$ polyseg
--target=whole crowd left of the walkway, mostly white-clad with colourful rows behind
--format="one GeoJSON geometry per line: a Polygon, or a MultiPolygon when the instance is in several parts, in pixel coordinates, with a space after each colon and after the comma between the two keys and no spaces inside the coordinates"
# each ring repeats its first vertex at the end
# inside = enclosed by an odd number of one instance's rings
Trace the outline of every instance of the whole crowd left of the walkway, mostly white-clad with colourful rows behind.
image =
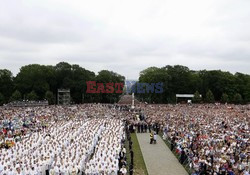
{"type": "Polygon", "coordinates": [[[2,142],[14,142],[0,149],[1,175],[127,173],[125,122],[118,110],[105,105],[1,108],[0,121],[1,131],[7,131],[2,142]]]}

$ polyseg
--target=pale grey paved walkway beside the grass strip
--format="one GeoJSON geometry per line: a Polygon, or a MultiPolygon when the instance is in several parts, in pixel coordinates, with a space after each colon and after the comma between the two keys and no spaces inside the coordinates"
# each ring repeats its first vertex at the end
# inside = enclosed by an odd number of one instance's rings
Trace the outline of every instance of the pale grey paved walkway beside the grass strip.
{"type": "Polygon", "coordinates": [[[164,143],[149,144],[149,133],[136,134],[149,175],[187,175],[188,173],[164,143]]]}

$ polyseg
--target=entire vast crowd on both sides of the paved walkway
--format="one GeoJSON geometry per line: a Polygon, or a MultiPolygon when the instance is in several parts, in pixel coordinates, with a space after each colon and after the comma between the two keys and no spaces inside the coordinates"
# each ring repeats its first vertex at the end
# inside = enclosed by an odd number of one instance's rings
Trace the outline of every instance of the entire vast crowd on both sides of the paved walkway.
{"type": "Polygon", "coordinates": [[[154,131],[193,175],[249,175],[249,121],[247,105],[3,107],[0,174],[133,174],[129,133],[154,131]]]}

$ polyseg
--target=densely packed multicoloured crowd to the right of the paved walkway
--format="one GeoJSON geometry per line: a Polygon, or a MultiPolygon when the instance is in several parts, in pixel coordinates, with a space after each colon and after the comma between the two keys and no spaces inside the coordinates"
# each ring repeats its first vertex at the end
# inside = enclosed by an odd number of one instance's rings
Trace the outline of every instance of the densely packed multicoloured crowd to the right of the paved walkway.
{"type": "MultiPolygon", "coordinates": [[[[250,106],[147,105],[140,108],[147,125],[159,126],[163,138],[189,164],[193,175],[249,175],[250,106]]],[[[140,125],[134,120],[133,125],[140,125]]]]}

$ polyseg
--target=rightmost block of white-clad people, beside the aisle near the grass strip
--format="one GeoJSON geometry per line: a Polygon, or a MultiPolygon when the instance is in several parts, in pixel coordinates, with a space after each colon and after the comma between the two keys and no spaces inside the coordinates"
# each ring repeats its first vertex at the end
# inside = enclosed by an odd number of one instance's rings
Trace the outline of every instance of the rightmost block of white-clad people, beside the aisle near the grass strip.
{"type": "MultiPolygon", "coordinates": [[[[103,123],[103,121],[100,121],[103,123]]],[[[100,133],[100,140],[95,146],[92,159],[86,164],[86,174],[116,174],[119,168],[120,154],[126,154],[126,149],[122,149],[125,141],[125,132],[120,120],[108,120],[104,124],[105,130],[100,133]]],[[[126,174],[123,164],[121,173],[126,174]]]]}

